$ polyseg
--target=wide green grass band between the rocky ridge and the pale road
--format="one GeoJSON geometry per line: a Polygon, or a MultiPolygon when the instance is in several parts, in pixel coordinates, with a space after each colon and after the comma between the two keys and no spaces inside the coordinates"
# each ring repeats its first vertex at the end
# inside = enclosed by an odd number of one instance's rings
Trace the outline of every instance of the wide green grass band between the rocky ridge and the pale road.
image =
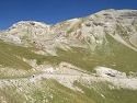
{"type": "Polygon", "coordinates": [[[37,64],[48,61],[52,65],[57,65],[61,61],[70,62],[88,71],[93,71],[96,66],[105,66],[119,71],[129,72],[137,71],[137,52],[115,41],[109,34],[105,35],[109,44],[105,43],[94,50],[71,47],[71,50],[62,50],[57,48],[58,56],[42,56],[32,53],[34,47],[21,47],[0,42],[0,64],[13,66],[21,69],[31,69],[31,66],[24,62],[23,57],[27,59],[36,59],[37,64]],[[115,66],[114,66],[115,65],[115,66]]]}

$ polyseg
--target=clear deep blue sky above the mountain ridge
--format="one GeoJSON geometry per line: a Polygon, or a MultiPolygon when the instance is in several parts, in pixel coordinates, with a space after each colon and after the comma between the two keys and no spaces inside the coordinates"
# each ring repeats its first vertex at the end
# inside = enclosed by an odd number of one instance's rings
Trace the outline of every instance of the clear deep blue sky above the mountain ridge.
{"type": "Polygon", "coordinates": [[[0,30],[20,21],[55,24],[106,9],[137,10],[137,0],[0,0],[0,30]]]}

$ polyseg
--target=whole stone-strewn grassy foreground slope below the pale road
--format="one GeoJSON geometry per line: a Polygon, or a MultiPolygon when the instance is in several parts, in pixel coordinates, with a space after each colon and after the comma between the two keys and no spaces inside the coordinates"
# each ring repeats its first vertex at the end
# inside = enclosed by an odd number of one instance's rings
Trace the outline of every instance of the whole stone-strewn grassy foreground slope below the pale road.
{"type": "Polygon", "coordinates": [[[2,100],[8,103],[136,103],[137,91],[117,89],[109,82],[75,81],[80,91],[70,90],[53,79],[37,82],[19,81],[0,89],[2,100]]]}

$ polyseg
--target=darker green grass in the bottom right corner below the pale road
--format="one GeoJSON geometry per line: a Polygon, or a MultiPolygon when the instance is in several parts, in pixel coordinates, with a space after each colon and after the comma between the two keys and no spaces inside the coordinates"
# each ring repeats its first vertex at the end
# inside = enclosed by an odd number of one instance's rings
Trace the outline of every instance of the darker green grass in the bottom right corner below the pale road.
{"type": "Polygon", "coordinates": [[[96,103],[136,103],[137,91],[129,89],[110,89],[109,85],[112,85],[109,82],[95,82],[92,81],[91,85],[84,85],[75,81],[75,87],[80,88],[84,94],[95,101],[96,103]],[[89,85],[89,87],[87,87],[89,85]],[[90,88],[94,87],[94,88],[90,88]],[[103,94],[103,96],[101,95],[103,94]]]}

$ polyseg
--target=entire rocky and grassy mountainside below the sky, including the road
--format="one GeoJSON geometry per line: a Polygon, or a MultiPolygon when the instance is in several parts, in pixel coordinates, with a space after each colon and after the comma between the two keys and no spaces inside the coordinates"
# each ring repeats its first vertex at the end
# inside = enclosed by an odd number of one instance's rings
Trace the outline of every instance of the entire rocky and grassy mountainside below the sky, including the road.
{"type": "Polygon", "coordinates": [[[0,58],[1,103],[136,103],[137,10],[21,21],[0,32],[0,58]]]}

